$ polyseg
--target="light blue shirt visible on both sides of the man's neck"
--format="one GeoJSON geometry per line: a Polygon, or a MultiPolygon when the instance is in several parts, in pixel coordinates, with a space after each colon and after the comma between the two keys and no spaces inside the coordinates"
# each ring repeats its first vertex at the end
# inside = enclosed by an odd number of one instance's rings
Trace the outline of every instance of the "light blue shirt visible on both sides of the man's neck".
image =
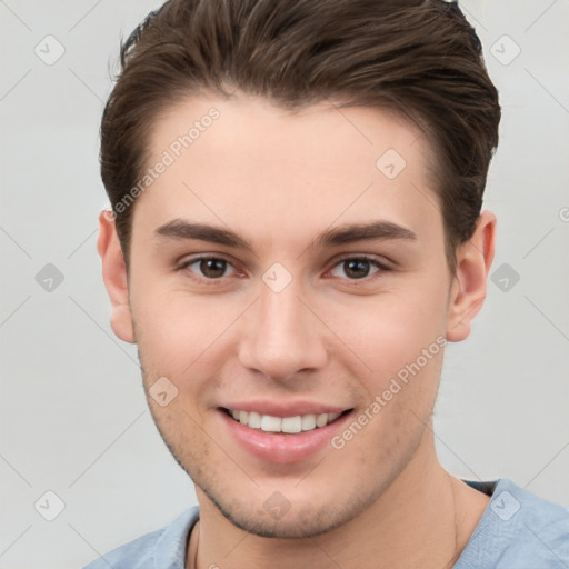
{"type": "MultiPolygon", "coordinates": [[[[507,478],[473,482],[491,500],[453,569],[569,569],[569,508],[542,500],[507,478]]],[[[83,569],[186,569],[198,507],[113,549],[83,569]]]]}

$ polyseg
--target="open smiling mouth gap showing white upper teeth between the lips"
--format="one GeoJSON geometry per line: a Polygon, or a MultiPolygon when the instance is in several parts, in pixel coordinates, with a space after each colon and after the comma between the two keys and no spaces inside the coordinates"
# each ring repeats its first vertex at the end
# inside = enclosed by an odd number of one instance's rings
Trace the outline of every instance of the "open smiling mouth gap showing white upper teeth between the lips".
{"type": "Polygon", "coordinates": [[[231,419],[240,422],[251,429],[261,430],[264,432],[282,432],[287,435],[295,435],[299,432],[312,431],[320,429],[338,420],[353,409],[347,409],[342,412],[336,413],[308,413],[297,415],[295,417],[273,417],[271,415],[261,415],[256,411],[241,411],[239,409],[221,408],[231,419]]]}

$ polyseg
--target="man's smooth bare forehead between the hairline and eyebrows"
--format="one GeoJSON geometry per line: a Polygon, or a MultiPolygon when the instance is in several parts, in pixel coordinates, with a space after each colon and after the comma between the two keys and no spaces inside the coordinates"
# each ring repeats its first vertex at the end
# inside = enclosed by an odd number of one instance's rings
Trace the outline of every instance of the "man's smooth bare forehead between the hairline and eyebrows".
{"type": "Polygon", "coordinates": [[[290,233],[282,239],[306,241],[335,223],[385,219],[442,236],[427,140],[387,111],[326,102],[293,113],[261,98],[192,97],[158,118],[149,150],[149,168],[167,166],[134,218],[154,228],[186,217],[251,242],[277,226],[290,233]]]}

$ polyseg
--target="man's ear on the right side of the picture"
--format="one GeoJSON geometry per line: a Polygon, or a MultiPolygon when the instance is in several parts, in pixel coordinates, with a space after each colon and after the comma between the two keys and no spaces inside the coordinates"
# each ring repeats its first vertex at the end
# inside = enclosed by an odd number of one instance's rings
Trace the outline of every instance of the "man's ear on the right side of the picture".
{"type": "Polygon", "coordinates": [[[447,340],[468,338],[475,316],[482,308],[496,246],[496,216],[480,213],[472,237],[457,251],[457,271],[449,295],[447,340]]]}

